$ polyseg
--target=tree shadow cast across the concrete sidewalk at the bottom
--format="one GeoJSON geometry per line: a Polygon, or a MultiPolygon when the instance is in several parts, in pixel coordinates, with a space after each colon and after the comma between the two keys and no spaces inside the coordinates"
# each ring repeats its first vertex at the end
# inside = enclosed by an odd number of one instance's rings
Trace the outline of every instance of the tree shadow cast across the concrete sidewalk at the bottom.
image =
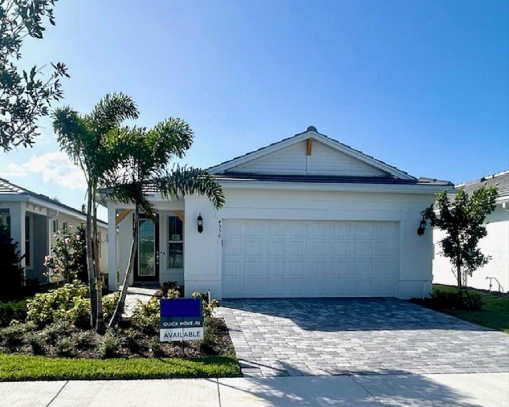
{"type": "MultiPolygon", "coordinates": [[[[293,367],[293,369],[295,369],[293,367]]],[[[382,373],[358,371],[355,375],[300,377],[244,377],[219,379],[221,401],[238,397],[238,405],[252,397],[271,405],[479,405],[463,392],[433,378],[401,370],[382,373]],[[245,398],[245,400],[244,400],[245,398]]],[[[227,403],[225,403],[227,405],[227,403]]]]}

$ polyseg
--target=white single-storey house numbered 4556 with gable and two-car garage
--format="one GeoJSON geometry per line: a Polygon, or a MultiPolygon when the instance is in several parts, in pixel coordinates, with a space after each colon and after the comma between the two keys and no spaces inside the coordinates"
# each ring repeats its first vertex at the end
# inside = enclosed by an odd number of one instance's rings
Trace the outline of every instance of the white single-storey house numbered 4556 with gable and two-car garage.
{"type": "MultiPolygon", "coordinates": [[[[429,291],[432,233],[416,230],[420,211],[450,182],[417,179],[314,127],[209,172],[225,193],[220,210],[203,196],[151,196],[158,223],[140,220],[131,284],[175,280],[186,296],[210,289],[215,298],[429,291]]],[[[128,260],[133,206],[104,205],[115,289],[128,260]]]]}

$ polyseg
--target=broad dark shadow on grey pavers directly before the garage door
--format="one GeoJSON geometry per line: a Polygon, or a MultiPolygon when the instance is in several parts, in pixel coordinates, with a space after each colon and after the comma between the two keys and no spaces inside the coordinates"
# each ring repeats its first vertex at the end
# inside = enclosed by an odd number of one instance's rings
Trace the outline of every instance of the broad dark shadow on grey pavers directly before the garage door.
{"type": "MultiPolygon", "coordinates": [[[[236,319],[272,321],[274,328],[278,321],[271,317],[289,319],[310,331],[492,330],[397,298],[229,299],[222,300],[221,307],[223,312],[234,312],[236,319]]],[[[226,319],[236,330],[231,319],[226,319]]]]}

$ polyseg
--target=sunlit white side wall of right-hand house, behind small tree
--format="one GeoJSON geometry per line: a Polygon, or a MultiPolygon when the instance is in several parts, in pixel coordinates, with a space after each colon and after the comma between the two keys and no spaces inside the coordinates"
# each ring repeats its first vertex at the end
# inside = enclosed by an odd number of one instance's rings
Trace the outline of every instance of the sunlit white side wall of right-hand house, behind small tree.
{"type": "MultiPolygon", "coordinates": [[[[486,225],[488,235],[480,240],[479,248],[484,255],[492,259],[484,267],[467,277],[469,287],[488,290],[489,280],[486,277],[496,277],[505,292],[509,291],[509,211],[497,205],[495,211],[488,217],[486,225]]],[[[433,259],[433,282],[439,284],[456,285],[456,276],[451,272],[449,259],[440,255],[439,241],[445,237],[441,230],[433,231],[435,257],[433,259]]],[[[492,290],[498,290],[493,282],[492,290]]]]}

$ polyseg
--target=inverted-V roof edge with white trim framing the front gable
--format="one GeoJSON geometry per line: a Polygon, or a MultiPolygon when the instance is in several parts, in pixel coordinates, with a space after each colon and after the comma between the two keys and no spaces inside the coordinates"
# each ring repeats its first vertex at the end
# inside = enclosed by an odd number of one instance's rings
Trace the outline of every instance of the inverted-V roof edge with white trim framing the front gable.
{"type": "Polygon", "coordinates": [[[405,171],[400,170],[399,168],[396,168],[381,160],[378,160],[371,155],[364,154],[362,151],[356,150],[346,144],[340,143],[339,141],[334,140],[324,134],[318,133],[317,129],[314,126],[309,126],[307,130],[303,133],[298,133],[295,136],[288,137],[276,143],[272,143],[269,144],[268,146],[240,155],[236,158],[233,158],[232,160],[228,160],[216,166],[210,167],[207,169],[207,171],[211,172],[212,174],[223,174],[238,165],[260,158],[261,156],[288,147],[292,144],[298,143],[308,138],[321,141],[325,145],[328,145],[329,147],[335,150],[348,154],[353,158],[360,160],[366,164],[369,164],[375,168],[385,171],[395,178],[416,180],[415,177],[411,176],[405,171]]]}

